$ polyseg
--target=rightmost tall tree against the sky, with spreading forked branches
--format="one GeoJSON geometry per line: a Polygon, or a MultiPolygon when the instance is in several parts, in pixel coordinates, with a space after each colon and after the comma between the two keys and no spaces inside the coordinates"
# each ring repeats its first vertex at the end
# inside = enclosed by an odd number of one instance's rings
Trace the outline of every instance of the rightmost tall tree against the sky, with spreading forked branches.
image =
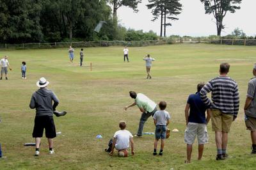
{"type": "Polygon", "coordinates": [[[235,13],[240,9],[238,4],[241,4],[242,0],[200,0],[204,3],[205,13],[211,14],[216,19],[217,35],[221,36],[223,25],[223,19],[227,12],[235,13]]]}

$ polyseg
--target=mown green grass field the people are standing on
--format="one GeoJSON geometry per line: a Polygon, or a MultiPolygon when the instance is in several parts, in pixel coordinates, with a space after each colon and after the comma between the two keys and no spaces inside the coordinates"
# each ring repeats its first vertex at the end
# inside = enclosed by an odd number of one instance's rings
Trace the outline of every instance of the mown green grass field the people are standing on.
{"type": "MultiPolygon", "coordinates": [[[[0,169],[255,169],[255,156],[250,155],[250,132],[243,120],[243,105],[247,83],[255,63],[255,47],[181,44],[129,48],[130,63],[124,63],[122,47],[94,47],[85,49],[85,64],[79,66],[79,49],[74,63],[68,62],[67,49],[1,50],[8,55],[13,68],[9,80],[0,81],[0,143],[3,158],[0,169]],[[146,79],[146,54],[156,59],[152,79],[146,79]],[[26,61],[28,79],[21,79],[20,65],[26,61]],[[197,161],[194,144],[192,163],[184,164],[186,128],[184,107],[188,95],[195,93],[198,82],[207,82],[218,75],[220,63],[230,63],[230,77],[239,85],[239,115],[232,124],[228,137],[230,158],[216,161],[216,146],[211,125],[208,126],[209,144],[205,145],[202,161],[197,161]],[[90,71],[90,63],[93,65],[90,71]],[[34,142],[31,136],[35,110],[29,109],[36,81],[45,77],[60,99],[59,111],[66,116],[56,118],[55,155],[48,154],[47,140],[42,138],[40,157],[35,148],[24,143],[34,142]],[[163,157],[153,156],[153,135],[134,139],[135,155],[109,157],[104,151],[108,141],[118,130],[120,120],[127,121],[127,130],[136,133],[140,111],[124,106],[131,104],[129,91],[144,93],[155,102],[167,102],[172,116],[170,129],[178,128],[166,140],[163,157]],[[101,134],[102,139],[96,139],[101,134]]],[[[211,123],[210,123],[211,124],[211,123]]],[[[152,118],[145,123],[144,132],[154,132],[152,118]]]]}

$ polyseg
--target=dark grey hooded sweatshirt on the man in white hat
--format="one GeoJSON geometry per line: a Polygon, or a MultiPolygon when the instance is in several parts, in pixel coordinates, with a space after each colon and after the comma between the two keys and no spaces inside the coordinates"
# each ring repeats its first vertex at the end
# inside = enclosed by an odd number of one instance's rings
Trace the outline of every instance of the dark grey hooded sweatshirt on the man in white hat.
{"type": "Polygon", "coordinates": [[[33,93],[29,107],[36,109],[36,116],[53,116],[53,111],[55,111],[58,104],[59,100],[53,91],[40,88],[33,93]]]}

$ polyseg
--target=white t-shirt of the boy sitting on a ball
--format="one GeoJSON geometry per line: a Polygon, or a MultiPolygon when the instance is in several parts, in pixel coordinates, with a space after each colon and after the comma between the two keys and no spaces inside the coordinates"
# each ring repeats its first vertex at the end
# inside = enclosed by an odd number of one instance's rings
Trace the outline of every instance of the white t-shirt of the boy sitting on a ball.
{"type": "Polygon", "coordinates": [[[116,150],[124,150],[129,148],[129,142],[131,137],[133,136],[128,130],[116,131],[114,134],[114,138],[116,138],[116,150]]]}

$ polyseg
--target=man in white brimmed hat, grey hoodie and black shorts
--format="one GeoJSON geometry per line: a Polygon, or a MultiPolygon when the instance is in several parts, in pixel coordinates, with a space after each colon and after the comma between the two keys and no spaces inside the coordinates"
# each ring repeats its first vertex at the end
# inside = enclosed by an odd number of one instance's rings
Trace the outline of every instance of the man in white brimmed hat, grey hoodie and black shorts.
{"type": "Polygon", "coordinates": [[[39,147],[41,137],[44,133],[44,128],[45,137],[48,138],[49,153],[54,153],[54,150],[52,150],[52,139],[56,137],[56,130],[53,120],[53,111],[56,110],[59,100],[51,90],[46,88],[48,84],[49,81],[46,81],[44,77],[40,78],[40,80],[36,82],[36,86],[38,86],[40,89],[33,93],[31,102],[29,104],[31,109],[36,109],[35,126],[33,130],[33,137],[35,137],[36,141],[35,156],[39,156],[40,153],[39,147]],[[53,105],[52,101],[54,102],[53,105]]]}

